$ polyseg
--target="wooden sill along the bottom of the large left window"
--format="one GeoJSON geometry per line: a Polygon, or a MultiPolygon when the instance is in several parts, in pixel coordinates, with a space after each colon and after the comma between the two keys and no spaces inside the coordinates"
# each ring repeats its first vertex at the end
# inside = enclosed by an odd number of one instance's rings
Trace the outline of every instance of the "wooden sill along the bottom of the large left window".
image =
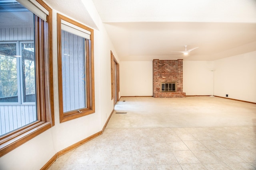
{"type": "Polygon", "coordinates": [[[3,135],[0,137],[0,157],[51,127],[50,122],[36,121],[17,131],[3,135]]]}

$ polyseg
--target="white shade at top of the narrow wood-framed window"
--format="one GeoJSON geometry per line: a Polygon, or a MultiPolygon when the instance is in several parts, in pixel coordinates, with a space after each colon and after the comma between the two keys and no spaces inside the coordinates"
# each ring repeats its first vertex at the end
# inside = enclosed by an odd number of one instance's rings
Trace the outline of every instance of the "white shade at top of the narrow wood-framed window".
{"type": "Polygon", "coordinates": [[[78,26],[76,26],[70,22],[64,21],[64,20],[61,20],[61,29],[64,31],[67,31],[69,33],[78,35],[80,37],[84,37],[86,39],[90,39],[90,37],[91,37],[90,31],[83,29],[81,27],[78,27],[78,26]]]}

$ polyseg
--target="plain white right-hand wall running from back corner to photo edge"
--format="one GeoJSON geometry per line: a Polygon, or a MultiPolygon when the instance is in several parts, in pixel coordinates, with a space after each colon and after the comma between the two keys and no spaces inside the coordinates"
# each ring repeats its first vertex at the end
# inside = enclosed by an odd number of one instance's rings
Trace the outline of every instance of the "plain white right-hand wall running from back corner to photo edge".
{"type": "Polygon", "coordinates": [[[214,95],[256,103],[256,51],[214,61],[214,95]]]}

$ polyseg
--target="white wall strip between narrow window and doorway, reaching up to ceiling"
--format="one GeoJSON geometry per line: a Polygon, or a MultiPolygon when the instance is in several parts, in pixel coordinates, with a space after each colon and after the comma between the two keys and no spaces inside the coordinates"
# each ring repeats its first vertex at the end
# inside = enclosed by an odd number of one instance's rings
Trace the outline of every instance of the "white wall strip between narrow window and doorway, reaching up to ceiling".
{"type": "Polygon", "coordinates": [[[114,99],[111,99],[110,51],[118,63],[120,59],[92,0],[82,1],[82,3],[98,27],[94,29],[94,87],[95,100],[99,101],[100,127],[102,128],[114,109],[114,99]]]}

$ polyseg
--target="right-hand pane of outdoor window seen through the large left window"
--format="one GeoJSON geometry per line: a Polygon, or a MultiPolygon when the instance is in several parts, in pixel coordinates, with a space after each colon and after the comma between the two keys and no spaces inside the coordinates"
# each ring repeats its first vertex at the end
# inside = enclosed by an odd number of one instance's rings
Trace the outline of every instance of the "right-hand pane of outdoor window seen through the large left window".
{"type": "Polygon", "coordinates": [[[23,102],[36,102],[34,43],[21,43],[23,67],[23,102]]]}

